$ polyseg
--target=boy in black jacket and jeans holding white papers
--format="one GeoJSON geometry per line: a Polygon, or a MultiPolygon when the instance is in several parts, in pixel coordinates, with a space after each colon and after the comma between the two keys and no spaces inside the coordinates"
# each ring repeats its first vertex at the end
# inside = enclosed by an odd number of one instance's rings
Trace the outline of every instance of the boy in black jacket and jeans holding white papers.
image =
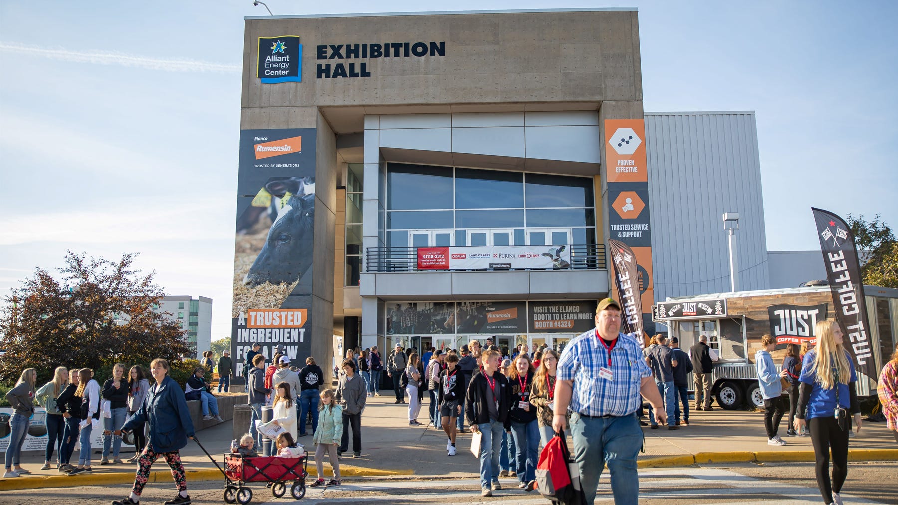
{"type": "Polygon", "coordinates": [[[499,451],[502,450],[502,432],[511,429],[508,411],[511,409],[511,387],[508,379],[498,373],[502,356],[497,350],[483,353],[481,373],[471,377],[468,385],[465,415],[471,424],[471,433],[482,434],[480,439],[480,488],[481,496],[492,496],[502,489],[499,484],[499,451]]]}

